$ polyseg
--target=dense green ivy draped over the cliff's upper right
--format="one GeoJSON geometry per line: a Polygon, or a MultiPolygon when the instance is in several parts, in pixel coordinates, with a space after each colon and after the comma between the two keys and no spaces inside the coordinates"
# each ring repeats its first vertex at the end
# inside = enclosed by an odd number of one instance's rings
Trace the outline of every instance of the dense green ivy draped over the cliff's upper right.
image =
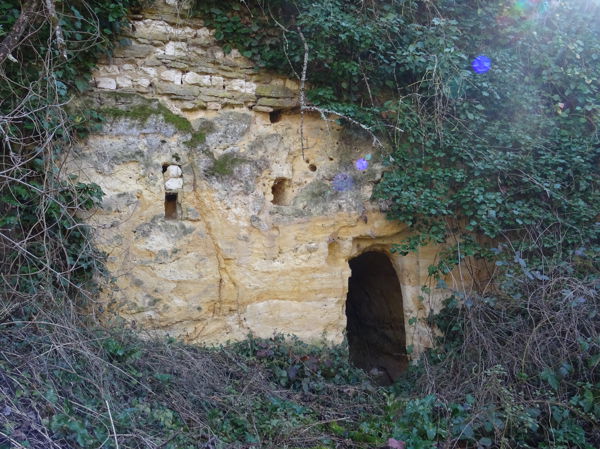
{"type": "Polygon", "coordinates": [[[462,257],[481,237],[535,258],[597,249],[594,2],[220,3],[197,8],[225,48],[306,73],[310,104],[386,137],[376,197],[416,231],[399,251],[460,240],[462,257]],[[476,73],[481,54],[492,66],[476,73]]]}

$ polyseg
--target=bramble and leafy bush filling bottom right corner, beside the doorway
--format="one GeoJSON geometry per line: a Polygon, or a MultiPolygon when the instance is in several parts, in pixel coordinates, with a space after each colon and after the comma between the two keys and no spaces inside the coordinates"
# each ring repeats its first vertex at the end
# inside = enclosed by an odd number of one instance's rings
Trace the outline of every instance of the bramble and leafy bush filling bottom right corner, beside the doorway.
{"type": "MultiPolygon", "coordinates": [[[[425,414],[413,426],[433,420],[443,440],[467,447],[597,447],[600,283],[597,271],[580,276],[582,262],[532,279],[517,258],[501,290],[449,298],[431,317],[443,336],[412,386],[433,399],[404,406],[425,414]]],[[[403,419],[396,438],[411,442],[403,419]]]]}

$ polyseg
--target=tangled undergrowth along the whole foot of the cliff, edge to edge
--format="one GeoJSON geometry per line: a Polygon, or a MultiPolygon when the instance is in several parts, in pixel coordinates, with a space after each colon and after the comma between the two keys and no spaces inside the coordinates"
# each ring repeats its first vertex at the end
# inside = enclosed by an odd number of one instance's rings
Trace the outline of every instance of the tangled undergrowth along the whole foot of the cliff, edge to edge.
{"type": "Polygon", "coordinates": [[[0,325],[0,448],[595,449],[600,283],[576,272],[588,262],[535,282],[515,263],[501,293],[456,292],[431,317],[436,349],[391,387],[345,345],[202,348],[38,310],[0,325]]]}

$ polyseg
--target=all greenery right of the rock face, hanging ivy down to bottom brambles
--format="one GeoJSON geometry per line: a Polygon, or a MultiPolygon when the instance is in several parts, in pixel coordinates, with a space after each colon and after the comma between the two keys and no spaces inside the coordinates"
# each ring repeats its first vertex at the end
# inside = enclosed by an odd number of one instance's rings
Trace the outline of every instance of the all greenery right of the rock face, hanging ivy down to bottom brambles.
{"type": "Polygon", "coordinates": [[[398,252],[446,245],[429,267],[440,288],[468,272],[428,320],[437,348],[396,387],[413,396],[392,435],[598,446],[600,5],[197,4],[226,46],[304,79],[304,106],[384,142],[375,197],[414,230],[398,252]]]}

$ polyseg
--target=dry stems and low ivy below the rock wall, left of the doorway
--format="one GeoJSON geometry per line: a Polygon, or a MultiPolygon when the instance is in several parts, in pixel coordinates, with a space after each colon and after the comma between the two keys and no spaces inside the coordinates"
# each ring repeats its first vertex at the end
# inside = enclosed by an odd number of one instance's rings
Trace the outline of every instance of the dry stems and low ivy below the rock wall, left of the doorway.
{"type": "Polygon", "coordinates": [[[276,336],[207,349],[114,329],[2,326],[1,448],[350,448],[385,439],[385,395],[348,364],[344,346],[276,336]]]}

